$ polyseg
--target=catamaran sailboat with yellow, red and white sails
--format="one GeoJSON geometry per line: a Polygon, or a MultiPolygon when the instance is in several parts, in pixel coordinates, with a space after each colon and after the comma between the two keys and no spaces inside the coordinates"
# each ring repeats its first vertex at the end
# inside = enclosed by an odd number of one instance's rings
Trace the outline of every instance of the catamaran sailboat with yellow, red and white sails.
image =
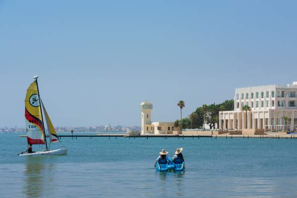
{"type": "Polygon", "coordinates": [[[64,155],[67,154],[67,148],[62,147],[55,150],[49,150],[52,143],[59,142],[57,133],[49,119],[49,114],[46,110],[45,105],[40,99],[38,89],[38,76],[34,76],[33,83],[27,89],[25,98],[25,118],[26,118],[26,131],[27,131],[27,142],[32,145],[45,145],[46,149],[36,152],[21,152],[19,156],[36,156],[36,155],[64,155]],[[45,114],[48,131],[49,131],[49,145],[47,143],[45,125],[43,119],[43,111],[45,114]]]}

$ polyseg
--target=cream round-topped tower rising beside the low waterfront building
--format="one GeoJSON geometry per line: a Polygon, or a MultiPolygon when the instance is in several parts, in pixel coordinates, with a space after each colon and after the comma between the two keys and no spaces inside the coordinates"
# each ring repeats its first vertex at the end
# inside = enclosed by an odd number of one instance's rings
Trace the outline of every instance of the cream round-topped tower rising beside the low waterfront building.
{"type": "Polygon", "coordinates": [[[140,109],[141,109],[141,134],[144,135],[148,131],[150,132],[150,127],[146,127],[146,125],[151,124],[150,111],[152,109],[152,104],[148,102],[148,100],[146,100],[140,104],[140,109]]]}

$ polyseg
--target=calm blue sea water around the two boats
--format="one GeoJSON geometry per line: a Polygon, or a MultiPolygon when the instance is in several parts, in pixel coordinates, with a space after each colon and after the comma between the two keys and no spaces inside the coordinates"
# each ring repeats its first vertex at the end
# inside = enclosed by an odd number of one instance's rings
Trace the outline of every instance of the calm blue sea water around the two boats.
{"type": "Polygon", "coordinates": [[[297,139],[62,138],[65,156],[19,157],[18,136],[0,134],[0,198],[297,197],[297,139]],[[186,171],[156,172],[178,147],[186,171]]]}

